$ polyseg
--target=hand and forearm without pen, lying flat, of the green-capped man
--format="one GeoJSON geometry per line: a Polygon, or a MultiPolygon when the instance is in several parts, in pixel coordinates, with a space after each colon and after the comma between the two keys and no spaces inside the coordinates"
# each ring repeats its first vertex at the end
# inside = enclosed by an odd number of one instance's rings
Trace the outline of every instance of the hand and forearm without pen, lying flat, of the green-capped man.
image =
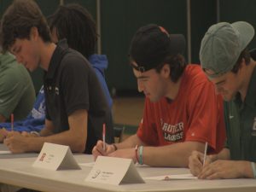
{"type": "Polygon", "coordinates": [[[216,160],[211,164],[204,166],[201,173],[198,175],[198,178],[207,179],[239,177],[253,177],[251,163],[249,161],[216,160]]]}

